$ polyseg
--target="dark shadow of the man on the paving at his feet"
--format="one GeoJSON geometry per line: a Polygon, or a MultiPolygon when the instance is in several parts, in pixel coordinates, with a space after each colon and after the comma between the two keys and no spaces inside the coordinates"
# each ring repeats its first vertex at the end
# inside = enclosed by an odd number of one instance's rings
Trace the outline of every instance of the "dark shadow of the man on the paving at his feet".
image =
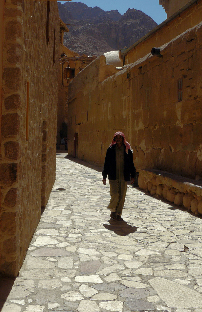
{"type": "Polygon", "coordinates": [[[117,235],[126,236],[129,233],[134,233],[137,231],[138,227],[132,227],[126,221],[117,221],[116,219],[110,219],[108,221],[110,224],[103,224],[103,226],[109,231],[113,231],[117,235]]]}

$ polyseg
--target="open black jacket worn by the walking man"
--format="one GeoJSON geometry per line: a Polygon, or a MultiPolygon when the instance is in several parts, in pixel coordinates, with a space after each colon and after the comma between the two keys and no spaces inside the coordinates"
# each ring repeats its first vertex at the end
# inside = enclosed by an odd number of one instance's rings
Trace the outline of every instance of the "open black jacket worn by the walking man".
{"type": "MultiPolygon", "coordinates": [[[[109,180],[116,180],[116,144],[110,146],[107,149],[105,161],[104,161],[104,169],[102,172],[103,179],[108,178],[109,180]]],[[[133,153],[129,149],[128,154],[125,151],[124,144],[124,180],[130,181],[130,177],[135,177],[135,167],[133,163],[133,153]]]]}

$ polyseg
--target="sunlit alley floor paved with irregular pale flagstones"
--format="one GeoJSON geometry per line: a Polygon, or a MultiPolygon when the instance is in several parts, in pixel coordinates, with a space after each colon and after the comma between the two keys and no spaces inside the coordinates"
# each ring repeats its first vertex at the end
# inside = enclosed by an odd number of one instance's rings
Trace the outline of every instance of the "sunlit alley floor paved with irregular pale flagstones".
{"type": "Polygon", "coordinates": [[[0,310],[202,312],[201,218],[128,186],[124,221],[110,220],[102,168],[65,155],[0,310]]]}

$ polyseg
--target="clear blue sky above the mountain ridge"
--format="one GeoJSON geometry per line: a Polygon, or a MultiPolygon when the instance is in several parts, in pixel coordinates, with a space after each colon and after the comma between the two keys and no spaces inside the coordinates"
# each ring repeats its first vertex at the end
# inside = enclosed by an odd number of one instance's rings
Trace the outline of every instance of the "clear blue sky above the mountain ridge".
{"type": "MultiPolygon", "coordinates": [[[[59,1],[65,3],[66,1],[59,1]]],[[[159,0],[72,0],[72,2],[83,2],[88,7],[100,7],[104,11],[118,10],[122,15],[130,8],[141,10],[160,24],[166,19],[166,13],[159,0]]]]}

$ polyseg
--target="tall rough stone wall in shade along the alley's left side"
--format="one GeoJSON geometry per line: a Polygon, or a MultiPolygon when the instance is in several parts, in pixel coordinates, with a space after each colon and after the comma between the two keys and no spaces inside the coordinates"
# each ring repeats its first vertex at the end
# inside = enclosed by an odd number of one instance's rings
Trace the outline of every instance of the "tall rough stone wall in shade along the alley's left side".
{"type": "Polygon", "coordinates": [[[57,2],[50,1],[47,27],[47,3],[7,0],[4,7],[3,275],[17,276],[55,180],[59,16],[57,2]]]}

